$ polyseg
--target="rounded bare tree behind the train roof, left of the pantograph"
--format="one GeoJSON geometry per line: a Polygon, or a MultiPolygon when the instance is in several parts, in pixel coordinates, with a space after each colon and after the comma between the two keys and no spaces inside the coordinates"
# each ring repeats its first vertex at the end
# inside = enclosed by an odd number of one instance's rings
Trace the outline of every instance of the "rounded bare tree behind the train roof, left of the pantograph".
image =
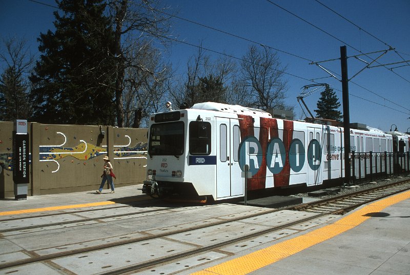
{"type": "Polygon", "coordinates": [[[267,47],[259,50],[250,46],[241,62],[242,80],[249,89],[251,107],[285,108],[288,90],[283,79],[286,67],[282,67],[276,52],[267,47]]]}

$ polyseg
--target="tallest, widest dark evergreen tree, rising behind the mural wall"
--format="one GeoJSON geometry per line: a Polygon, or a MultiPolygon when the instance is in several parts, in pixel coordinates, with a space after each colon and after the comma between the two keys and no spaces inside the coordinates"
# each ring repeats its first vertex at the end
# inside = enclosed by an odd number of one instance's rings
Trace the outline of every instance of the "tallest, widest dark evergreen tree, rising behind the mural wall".
{"type": "Polygon", "coordinates": [[[115,56],[103,0],[62,0],[56,30],[40,34],[43,54],[30,80],[33,120],[114,125],[115,56]]]}

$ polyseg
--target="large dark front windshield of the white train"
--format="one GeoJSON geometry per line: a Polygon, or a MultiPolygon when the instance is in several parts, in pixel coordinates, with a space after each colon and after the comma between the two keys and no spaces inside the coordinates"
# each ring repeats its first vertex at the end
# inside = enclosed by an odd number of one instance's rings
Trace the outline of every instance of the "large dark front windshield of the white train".
{"type": "Polygon", "coordinates": [[[183,122],[158,123],[151,126],[148,153],[150,155],[182,155],[183,122]]]}

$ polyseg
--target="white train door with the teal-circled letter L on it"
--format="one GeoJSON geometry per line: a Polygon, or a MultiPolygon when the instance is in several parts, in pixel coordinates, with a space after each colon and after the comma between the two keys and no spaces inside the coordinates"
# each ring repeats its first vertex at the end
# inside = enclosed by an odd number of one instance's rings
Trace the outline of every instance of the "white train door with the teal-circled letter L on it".
{"type": "Polygon", "coordinates": [[[308,183],[316,185],[322,183],[322,130],[308,127],[308,183]]]}

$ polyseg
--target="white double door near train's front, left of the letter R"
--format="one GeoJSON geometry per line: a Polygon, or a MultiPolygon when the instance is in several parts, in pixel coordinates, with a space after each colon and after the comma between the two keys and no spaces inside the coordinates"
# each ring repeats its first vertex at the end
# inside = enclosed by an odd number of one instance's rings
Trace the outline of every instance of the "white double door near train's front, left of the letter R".
{"type": "Polygon", "coordinates": [[[239,167],[239,122],[217,117],[216,123],[216,198],[243,195],[243,179],[239,167]]]}

